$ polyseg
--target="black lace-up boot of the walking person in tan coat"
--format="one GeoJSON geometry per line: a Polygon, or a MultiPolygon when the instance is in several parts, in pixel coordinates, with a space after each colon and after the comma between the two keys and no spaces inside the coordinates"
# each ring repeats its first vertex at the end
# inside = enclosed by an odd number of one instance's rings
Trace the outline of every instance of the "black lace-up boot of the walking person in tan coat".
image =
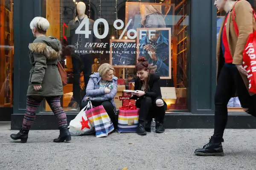
{"type": "Polygon", "coordinates": [[[209,143],[204,145],[201,149],[196,149],[195,154],[200,156],[224,156],[221,142],[224,139],[209,138],[209,143]]]}

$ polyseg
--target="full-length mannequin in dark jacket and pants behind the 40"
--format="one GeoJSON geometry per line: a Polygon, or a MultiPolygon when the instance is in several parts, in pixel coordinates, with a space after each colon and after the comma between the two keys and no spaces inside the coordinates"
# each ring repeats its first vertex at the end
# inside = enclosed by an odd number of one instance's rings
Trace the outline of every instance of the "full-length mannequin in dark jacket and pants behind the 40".
{"type": "MultiPolygon", "coordinates": [[[[89,27],[91,34],[88,38],[85,38],[84,34],[76,34],[77,28],[83,22],[83,20],[88,19],[85,14],[86,5],[83,2],[79,2],[76,5],[76,10],[78,15],[74,20],[71,20],[68,24],[67,28],[67,47],[66,50],[70,51],[72,57],[72,65],[73,65],[73,98],[77,102],[77,104],[81,104],[81,100],[85,94],[85,90],[80,88],[80,74],[83,72],[84,74],[84,87],[88,84],[92,64],[93,57],[92,51],[93,47],[90,46],[91,43],[99,43],[99,39],[94,36],[93,33],[93,25],[94,21],[89,18],[89,24],[83,24],[81,27],[81,31],[84,31],[86,27],[89,27]]],[[[72,110],[79,109],[79,105],[76,105],[72,110]]]]}

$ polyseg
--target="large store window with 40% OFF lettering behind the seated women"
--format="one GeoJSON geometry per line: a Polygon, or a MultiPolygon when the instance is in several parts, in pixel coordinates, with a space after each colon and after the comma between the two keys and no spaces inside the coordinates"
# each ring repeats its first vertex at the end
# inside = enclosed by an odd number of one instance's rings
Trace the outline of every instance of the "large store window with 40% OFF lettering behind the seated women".
{"type": "MultiPolygon", "coordinates": [[[[122,106],[122,91],[133,90],[141,56],[157,66],[168,111],[188,111],[189,9],[189,0],[44,0],[47,36],[63,45],[65,111],[79,112],[89,76],[103,63],[115,68],[114,100],[122,106]]],[[[47,103],[45,111],[51,111],[47,103]]]]}

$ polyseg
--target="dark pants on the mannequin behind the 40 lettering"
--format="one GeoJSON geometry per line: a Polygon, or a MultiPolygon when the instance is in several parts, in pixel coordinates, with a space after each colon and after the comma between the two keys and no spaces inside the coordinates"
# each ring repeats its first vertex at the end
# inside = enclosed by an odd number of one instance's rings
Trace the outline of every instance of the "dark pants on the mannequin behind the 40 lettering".
{"type": "Polygon", "coordinates": [[[76,102],[81,105],[82,97],[85,96],[85,89],[90,79],[92,71],[92,54],[72,54],[73,65],[73,97],[76,102]],[[80,74],[84,73],[84,91],[80,88],[80,74]]]}

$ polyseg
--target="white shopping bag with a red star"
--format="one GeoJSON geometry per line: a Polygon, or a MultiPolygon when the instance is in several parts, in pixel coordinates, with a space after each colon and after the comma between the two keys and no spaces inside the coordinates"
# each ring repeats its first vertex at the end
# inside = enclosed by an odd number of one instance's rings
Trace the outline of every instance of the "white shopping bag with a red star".
{"type": "Polygon", "coordinates": [[[69,132],[71,136],[81,136],[92,134],[95,132],[95,128],[90,124],[85,114],[85,111],[93,108],[92,103],[89,101],[88,105],[85,106],[76,116],[75,119],[70,121],[69,132]]]}

